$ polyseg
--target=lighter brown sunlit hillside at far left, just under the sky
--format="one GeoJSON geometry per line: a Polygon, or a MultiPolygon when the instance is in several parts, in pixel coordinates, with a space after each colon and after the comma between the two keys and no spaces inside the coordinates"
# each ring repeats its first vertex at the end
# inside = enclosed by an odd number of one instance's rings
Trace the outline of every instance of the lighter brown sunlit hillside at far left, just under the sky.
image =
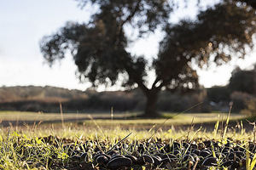
{"type": "Polygon", "coordinates": [[[80,90],[51,86],[15,86],[0,88],[0,103],[37,100],[44,102],[65,102],[71,99],[87,99],[88,94],[80,90]]]}

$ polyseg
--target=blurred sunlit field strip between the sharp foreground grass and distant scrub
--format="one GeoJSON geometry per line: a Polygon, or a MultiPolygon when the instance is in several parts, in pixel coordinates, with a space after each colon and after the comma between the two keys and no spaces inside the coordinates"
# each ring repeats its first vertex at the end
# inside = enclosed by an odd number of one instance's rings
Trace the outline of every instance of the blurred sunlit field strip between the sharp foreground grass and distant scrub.
{"type": "MultiPolygon", "coordinates": [[[[141,131],[159,126],[161,126],[162,130],[168,130],[170,128],[185,130],[193,123],[195,129],[203,127],[203,129],[207,129],[207,131],[212,131],[215,122],[224,122],[227,113],[164,113],[161,118],[156,119],[137,118],[136,116],[137,113],[117,113],[114,114],[112,118],[109,113],[64,113],[61,116],[60,113],[1,111],[0,126],[24,127],[24,125],[35,126],[40,124],[41,127],[54,126],[55,128],[61,128],[65,125],[67,127],[102,127],[106,129],[119,127],[120,129],[141,131]]],[[[236,127],[240,120],[245,120],[246,118],[247,117],[243,115],[231,114],[230,127],[236,127]]],[[[252,126],[250,126],[247,121],[244,121],[244,127],[247,131],[252,130],[252,126]]]]}

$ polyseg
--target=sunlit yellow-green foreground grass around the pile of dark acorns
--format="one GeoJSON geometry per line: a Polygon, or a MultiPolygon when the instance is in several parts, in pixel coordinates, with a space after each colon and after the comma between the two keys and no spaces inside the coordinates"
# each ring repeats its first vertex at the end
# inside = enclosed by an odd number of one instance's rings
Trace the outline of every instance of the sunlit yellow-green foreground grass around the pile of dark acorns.
{"type": "MultiPolygon", "coordinates": [[[[73,151],[70,152],[68,144],[79,146],[79,144],[88,144],[84,142],[90,141],[92,150],[102,147],[102,144],[106,150],[109,150],[130,133],[131,135],[123,142],[127,144],[130,152],[136,149],[131,146],[134,147],[134,144],[144,141],[152,143],[162,141],[171,144],[174,141],[200,143],[205,140],[214,140],[219,141],[220,144],[226,144],[231,139],[244,148],[250,142],[255,142],[255,132],[246,133],[242,124],[238,129],[227,128],[227,133],[224,133],[224,128],[218,127],[218,122],[212,132],[193,129],[193,126],[180,131],[172,127],[168,130],[152,127],[147,131],[137,131],[134,128],[124,130],[121,127],[105,129],[101,124],[95,124],[95,128],[67,124],[63,127],[61,124],[57,127],[54,124],[48,127],[45,125],[8,127],[0,130],[0,169],[64,169],[65,166],[74,162],[73,151]]],[[[121,151],[122,154],[128,152],[121,151]]],[[[92,161],[92,157],[93,155],[90,156],[89,162],[92,161]]]]}

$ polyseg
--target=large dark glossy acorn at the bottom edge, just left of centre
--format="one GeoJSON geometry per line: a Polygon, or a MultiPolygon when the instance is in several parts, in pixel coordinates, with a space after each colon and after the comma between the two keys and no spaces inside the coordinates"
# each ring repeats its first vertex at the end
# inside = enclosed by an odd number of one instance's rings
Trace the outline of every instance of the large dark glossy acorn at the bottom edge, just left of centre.
{"type": "Polygon", "coordinates": [[[107,167],[109,169],[118,169],[119,167],[131,167],[132,161],[128,157],[117,157],[108,161],[107,167]]]}

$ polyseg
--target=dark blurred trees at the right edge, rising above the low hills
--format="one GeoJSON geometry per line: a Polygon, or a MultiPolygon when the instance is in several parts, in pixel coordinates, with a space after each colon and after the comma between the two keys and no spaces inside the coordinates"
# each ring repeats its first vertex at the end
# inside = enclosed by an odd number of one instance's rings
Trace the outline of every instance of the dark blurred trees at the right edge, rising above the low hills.
{"type": "Polygon", "coordinates": [[[233,111],[256,114],[256,66],[251,70],[239,67],[232,72],[230,83],[224,87],[207,89],[207,98],[215,105],[227,105],[233,101],[233,111]]]}

